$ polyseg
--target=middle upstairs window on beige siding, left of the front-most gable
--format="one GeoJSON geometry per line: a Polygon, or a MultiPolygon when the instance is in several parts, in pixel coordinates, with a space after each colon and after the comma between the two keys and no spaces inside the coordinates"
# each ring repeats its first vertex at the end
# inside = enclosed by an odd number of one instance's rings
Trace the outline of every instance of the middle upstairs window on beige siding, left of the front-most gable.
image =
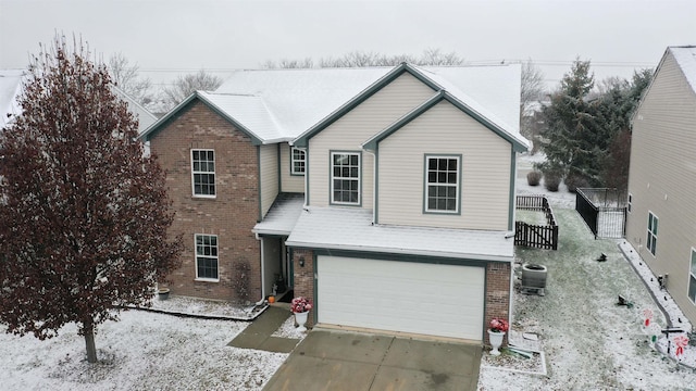
{"type": "Polygon", "coordinates": [[[360,153],[331,153],[331,201],[360,205],[360,153]]]}

